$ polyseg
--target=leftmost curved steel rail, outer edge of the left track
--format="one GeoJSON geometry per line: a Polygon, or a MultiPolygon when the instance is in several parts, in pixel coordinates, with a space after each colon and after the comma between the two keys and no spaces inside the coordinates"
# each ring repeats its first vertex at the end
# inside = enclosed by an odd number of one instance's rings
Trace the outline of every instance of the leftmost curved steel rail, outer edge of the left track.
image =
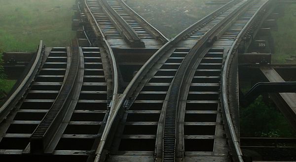
{"type": "Polygon", "coordinates": [[[23,95],[27,92],[28,87],[34,81],[36,74],[41,65],[41,58],[44,54],[44,47],[42,40],[39,43],[35,61],[31,66],[30,71],[24,78],[24,80],[18,85],[17,89],[11,94],[6,102],[0,108],[0,123],[6,118],[9,112],[14,108],[18,101],[20,101],[23,95]]]}

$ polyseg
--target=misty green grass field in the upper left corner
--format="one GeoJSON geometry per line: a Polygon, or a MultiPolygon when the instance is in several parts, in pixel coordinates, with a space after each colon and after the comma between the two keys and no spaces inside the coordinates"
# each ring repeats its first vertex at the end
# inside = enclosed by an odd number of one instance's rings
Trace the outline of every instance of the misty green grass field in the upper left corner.
{"type": "Polygon", "coordinates": [[[71,30],[75,0],[0,0],[0,49],[36,51],[40,40],[47,47],[63,47],[74,37],[71,30]]]}

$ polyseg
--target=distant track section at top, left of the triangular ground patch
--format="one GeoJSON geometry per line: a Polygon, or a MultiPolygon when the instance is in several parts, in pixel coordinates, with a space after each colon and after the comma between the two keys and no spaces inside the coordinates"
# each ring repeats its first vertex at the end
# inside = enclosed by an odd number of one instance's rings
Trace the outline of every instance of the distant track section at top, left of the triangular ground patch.
{"type": "Polygon", "coordinates": [[[122,0],[82,0],[84,13],[97,36],[106,37],[111,46],[161,47],[168,40],[122,0]],[[91,16],[93,15],[93,16],[91,16]],[[94,22],[95,21],[95,22],[94,22]],[[94,26],[94,25],[92,25],[94,26]]]}

